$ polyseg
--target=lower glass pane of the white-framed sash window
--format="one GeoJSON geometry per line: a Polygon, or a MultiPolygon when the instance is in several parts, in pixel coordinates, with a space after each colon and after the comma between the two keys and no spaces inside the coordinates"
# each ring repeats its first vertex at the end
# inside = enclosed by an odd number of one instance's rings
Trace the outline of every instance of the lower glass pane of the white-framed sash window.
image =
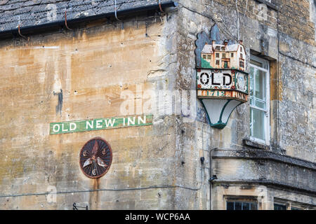
{"type": "Polygon", "coordinates": [[[252,124],[251,133],[253,137],[265,140],[265,112],[251,108],[250,113],[252,113],[252,122],[250,122],[252,124]]]}

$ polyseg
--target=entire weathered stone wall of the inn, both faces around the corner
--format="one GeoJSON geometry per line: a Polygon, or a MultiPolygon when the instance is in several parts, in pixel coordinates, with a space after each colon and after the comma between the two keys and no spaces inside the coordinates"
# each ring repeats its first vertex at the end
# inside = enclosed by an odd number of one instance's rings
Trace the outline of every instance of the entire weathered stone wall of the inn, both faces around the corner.
{"type": "Polygon", "coordinates": [[[268,147],[244,141],[249,103],[223,130],[209,126],[198,100],[190,102],[195,120],[166,110],[180,101],[176,91],[196,88],[197,33],[209,34],[216,22],[223,39],[237,37],[233,0],[180,0],[167,15],[1,40],[2,208],[225,209],[228,197],[251,197],[259,209],[273,209],[276,200],[315,207],[315,6],[263,2],[239,0],[237,7],[246,59],[270,60],[268,147]],[[49,134],[49,123],[119,116],[123,90],[133,93],[131,114],[145,113],[141,94],[157,106],[152,125],[49,134]],[[159,99],[159,90],[175,94],[174,102],[159,99]],[[113,161],[93,180],[79,168],[79,151],[97,136],[111,145],[113,161]],[[58,193],[49,194],[54,187],[58,193]]]}

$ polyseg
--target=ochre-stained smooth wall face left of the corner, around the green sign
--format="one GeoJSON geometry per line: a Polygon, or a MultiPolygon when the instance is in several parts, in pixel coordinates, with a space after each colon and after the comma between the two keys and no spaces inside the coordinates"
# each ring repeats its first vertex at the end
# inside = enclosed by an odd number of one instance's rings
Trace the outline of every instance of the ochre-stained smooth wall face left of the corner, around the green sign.
{"type": "Polygon", "coordinates": [[[174,208],[175,118],[157,117],[147,127],[49,134],[49,123],[119,116],[123,90],[164,86],[172,76],[162,72],[169,62],[164,29],[159,18],[138,18],[124,22],[124,29],[101,21],[29,41],[1,41],[2,209],[72,209],[74,202],[89,209],[174,208]],[[98,180],[79,168],[79,151],[93,137],[106,139],[113,152],[109,172],[98,180]],[[46,200],[51,187],[56,203],[46,200]],[[148,189],[119,190],[140,187],[148,189]]]}

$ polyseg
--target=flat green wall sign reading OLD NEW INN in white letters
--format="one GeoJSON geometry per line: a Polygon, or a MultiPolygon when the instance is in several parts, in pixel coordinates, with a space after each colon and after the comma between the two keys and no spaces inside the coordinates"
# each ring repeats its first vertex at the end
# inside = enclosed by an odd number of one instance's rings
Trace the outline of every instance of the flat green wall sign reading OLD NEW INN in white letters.
{"type": "Polygon", "coordinates": [[[60,123],[50,123],[49,133],[65,134],[72,132],[88,132],[119,127],[134,127],[145,125],[152,125],[152,115],[97,118],[92,120],[75,120],[60,123]]]}

